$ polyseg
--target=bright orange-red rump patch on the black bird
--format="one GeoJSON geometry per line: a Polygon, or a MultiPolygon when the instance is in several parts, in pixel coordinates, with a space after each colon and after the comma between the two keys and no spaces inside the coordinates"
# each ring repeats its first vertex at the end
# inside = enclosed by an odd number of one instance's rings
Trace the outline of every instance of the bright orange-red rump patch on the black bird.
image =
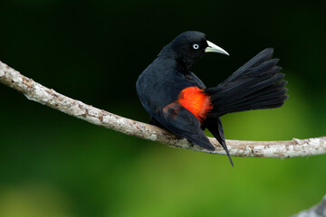
{"type": "Polygon", "coordinates": [[[213,109],[208,94],[197,87],[188,87],[180,92],[177,102],[193,113],[202,122],[209,111],[213,109]]]}

